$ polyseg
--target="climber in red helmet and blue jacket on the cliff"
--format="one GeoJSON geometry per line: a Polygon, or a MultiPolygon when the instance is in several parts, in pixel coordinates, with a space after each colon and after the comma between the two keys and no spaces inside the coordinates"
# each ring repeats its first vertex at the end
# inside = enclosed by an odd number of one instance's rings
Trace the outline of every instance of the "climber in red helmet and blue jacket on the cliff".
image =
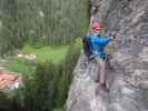
{"type": "Polygon", "coordinates": [[[100,33],[102,31],[102,24],[98,21],[92,22],[91,32],[89,36],[92,54],[92,58],[98,67],[100,68],[98,72],[98,78],[100,82],[100,87],[103,90],[107,90],[106,84],[106,60],[107,60],[107,51],[105,47],[116,38],[116,36],[107,36],[106,38],[102,37],[100,33]]]}

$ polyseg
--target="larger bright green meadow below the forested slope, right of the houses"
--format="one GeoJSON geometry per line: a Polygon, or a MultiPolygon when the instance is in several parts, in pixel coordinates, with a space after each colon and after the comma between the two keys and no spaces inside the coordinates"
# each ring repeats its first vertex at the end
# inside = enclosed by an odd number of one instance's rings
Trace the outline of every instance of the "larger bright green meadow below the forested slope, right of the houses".
{"type": "Polygon", "coordinates": [[[36,53],[37,61],[39,62],[51,60],[53,63],[58,63],[65,59],[68,48],[69,46],[60,46],[60,47],[42,47],[37,49],[27,44],[22,49],[22,52],[36,53]]]}

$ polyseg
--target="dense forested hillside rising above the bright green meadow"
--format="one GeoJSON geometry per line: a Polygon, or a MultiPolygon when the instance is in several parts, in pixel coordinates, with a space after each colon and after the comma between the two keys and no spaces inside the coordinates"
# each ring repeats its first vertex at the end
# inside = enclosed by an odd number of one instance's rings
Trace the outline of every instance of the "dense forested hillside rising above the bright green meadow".
{"type": "Polygon", "coordinates": [[[66,44],[86,34],[89,0],[0,0],[0,53],[29,41],[66,44]]]}

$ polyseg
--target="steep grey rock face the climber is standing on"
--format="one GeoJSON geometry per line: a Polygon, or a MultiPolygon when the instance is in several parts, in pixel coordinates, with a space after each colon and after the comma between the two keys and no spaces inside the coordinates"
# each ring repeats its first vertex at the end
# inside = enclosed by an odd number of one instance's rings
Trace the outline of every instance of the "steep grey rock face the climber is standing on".
{"type": "Polygon", "coordinates": [[[67,111],[148,111],[148,0],[90,0],[95,20],[121,42],[107,69],[110,91],[95,82],[97,65],[80,56],[67,100],[67,111]]]}

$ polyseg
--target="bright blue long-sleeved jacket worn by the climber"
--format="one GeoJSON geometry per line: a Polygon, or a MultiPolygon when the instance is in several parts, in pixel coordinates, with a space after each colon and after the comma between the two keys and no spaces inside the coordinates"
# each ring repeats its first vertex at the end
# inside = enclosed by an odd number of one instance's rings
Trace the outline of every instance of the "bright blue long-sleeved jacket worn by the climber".
{"type": "Polygon", "coordinates": [[[92,57],[97,57],[99,54],[107,54],[105,47],[108,44],[109,41],[112,40],[111,36],[107,36],[106,38],[101,36],[89,36],[90,39],[90,48],[93,52],[92,57]]]}

